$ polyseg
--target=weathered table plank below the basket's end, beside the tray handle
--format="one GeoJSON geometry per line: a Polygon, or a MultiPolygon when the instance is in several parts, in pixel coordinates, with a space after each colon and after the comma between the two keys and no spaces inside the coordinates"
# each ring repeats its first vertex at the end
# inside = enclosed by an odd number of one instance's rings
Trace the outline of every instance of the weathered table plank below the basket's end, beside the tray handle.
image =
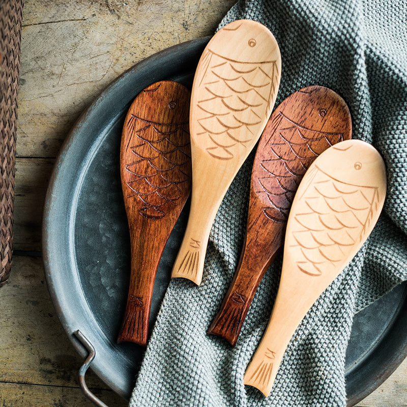
{"type": "MultiPolygon", "coordinates": [[[[0,383],[79,388],[77,374],[83,360],[54,310],[41,257],[14,256],[13,278],[0,290],[0,304],[0,383]]],[[[86,383],[93,389],[108,389],[91,370],[86,383]]]]}

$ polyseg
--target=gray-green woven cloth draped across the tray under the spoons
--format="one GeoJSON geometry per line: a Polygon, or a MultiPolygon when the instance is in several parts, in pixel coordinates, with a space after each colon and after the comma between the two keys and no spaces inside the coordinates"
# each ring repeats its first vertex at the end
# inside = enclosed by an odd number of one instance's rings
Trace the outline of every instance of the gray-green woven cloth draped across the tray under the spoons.
{"type": "Polygon", "coordinates": [[[373,144],[388,175],[384,211],[351,264],[290,341],[271,395],[243,385],[270,317],[281,255],[261,281],[238,343],[207,335],[243,244],[246,161],[212,227],[202,284],[172,280],[144,357],[131,407],[345,406],[345,351],[355,313],[407,279],[407,3],[390,0],[253,0],[239,18],[270,28],[282,57],[276,105],[304,86],[328,86],[350,107],[353,137],[373,144]]]}

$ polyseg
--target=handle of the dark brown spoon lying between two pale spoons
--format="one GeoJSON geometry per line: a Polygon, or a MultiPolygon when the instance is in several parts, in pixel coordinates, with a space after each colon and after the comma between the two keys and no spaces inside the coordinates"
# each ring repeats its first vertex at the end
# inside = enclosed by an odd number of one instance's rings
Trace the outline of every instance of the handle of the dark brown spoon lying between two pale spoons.
{"type": "Polygon", "coordinates": [[[225,338],[235,345],[249,311],[257,286],[282,245],[285,223],[265,227],[262,205],[250,191],[251,211],[248,214],[246,240],[235,276],[208,333],[225,338]],[[258,250],[261,247],[261,250],[258,250]],[[255,269],[255,270],[253,270],[255,269]]]}

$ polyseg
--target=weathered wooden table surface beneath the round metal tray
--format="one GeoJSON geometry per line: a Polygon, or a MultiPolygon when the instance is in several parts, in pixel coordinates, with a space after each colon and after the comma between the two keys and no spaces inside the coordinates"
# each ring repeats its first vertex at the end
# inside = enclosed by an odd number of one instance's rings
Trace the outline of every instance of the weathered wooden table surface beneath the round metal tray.
{"type": "MultiPolygon", "coordinates": [[[[79,114],[123,71],[211,35],[235,0],[25,0],[15,179],[14,258],[0,289],[0,405],[91,407],[82,359],[52,306],[41,258],[42,207],[55,157],[79,114]]],[[[92,372],[110,407],[125,406],[92,372]]],[[[359,406],[407,406],[407,360],[359,406]]]]}

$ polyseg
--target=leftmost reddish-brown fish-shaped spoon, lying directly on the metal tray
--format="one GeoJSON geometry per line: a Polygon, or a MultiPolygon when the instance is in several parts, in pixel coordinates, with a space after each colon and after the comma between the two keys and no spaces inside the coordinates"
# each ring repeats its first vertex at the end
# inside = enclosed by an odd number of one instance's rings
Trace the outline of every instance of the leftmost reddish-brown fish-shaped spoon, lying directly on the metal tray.
{"type": "Polygon", "coordinates": [[[154,83],[136,97],[124,123],[120,172],[131,275],[118,342],[147,342],[158,264],[191,189],[190,97],[180,83],[154,83]]]}

